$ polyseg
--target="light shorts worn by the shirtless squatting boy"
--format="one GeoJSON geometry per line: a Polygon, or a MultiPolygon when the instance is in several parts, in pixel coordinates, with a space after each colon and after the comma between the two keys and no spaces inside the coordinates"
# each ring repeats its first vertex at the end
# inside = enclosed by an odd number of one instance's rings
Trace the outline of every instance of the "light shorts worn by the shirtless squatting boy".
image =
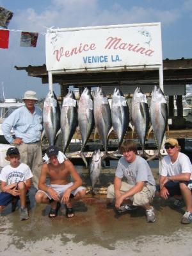
{"type": "MultiPolygon", "coordinates": [[[[57,185],[57,184],[50,184],[50,185],[47,185],[47,187],[51,187],[52,189],[54,189],[54,191],[56,191],[58,193],[58,195],[60,196],[60,199],[62,198],[63,196],[63,193],[68,189],[68,187],[71,187],[74,183],[73,182],[70,182],[66,185],[57,185]]],[[[70,192],[72,195],[76,196],[77,192],[81,191],[85,189],[85,187],[83,186],[80,186],[80,187],[77,187],[77,189],[74,189],[72,192],[70,192]]],[[[51,195],[45,191],[42,191],[42,190],[38,190],[36,193],[38,192],[44,192],[44,194],[47,196],[47,198],[49,198],[49,200],[51,200],[51,195]]]]}

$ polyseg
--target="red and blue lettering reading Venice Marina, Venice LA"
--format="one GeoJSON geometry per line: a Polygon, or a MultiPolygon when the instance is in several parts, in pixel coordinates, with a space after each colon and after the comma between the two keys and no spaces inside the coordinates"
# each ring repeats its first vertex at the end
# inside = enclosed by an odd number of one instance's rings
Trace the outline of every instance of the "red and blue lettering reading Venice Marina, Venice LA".
{"type": "MultiPolygon", "coordinates": [[[[61,57],[68,58],[73,55],[78,55],[83,52],[89,52],[97,49],[97,46],[94,43],[91,44],[82,44],[80,43],[79,46],[72,47],[72,49],[64,49],[64,47],[60,47],[60,49],[56,49],[53,52],[53,55],[56,56],[56,60],[60,62],[61,57]]],[[[122,38],[117,37],[108,37],[106,39],[106,44],[104,45],[105,50],[118,50],[118,51],[132,51],[134,53],[138,53],[140,55],[145,56],[153,56],[154,50],[148,49],[147,47],[141,47],[140,44],[131,44],[128,42],[124,42],[122,38]]],[[[102,50],[102,49],[101,49],[102,50]]],[[[119,62],[121,61],[118,55],[111,55],[110,60],[112,62],[119,62]]],[[[100,55],[100,56],[84,56],[83,57],[84,63],[92,63],[92,62],[108,62],[108,55],[100,55]]]]}

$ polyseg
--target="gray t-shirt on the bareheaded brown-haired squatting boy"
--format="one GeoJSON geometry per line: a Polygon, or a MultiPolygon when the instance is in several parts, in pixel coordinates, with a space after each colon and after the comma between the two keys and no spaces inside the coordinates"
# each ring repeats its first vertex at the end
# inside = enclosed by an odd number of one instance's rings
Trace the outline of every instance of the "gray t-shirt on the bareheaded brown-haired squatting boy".
{"type": "Polygon", "coordinates": [[[132,163],[121,157],[118,161],[115,176],[121,179],[123,177],[127,178],[127,183],[130,185],[136,185],[137,182],[147,182],[154,186],[154,190],[156,190],[156,182],[147,161],[138,155],[132,163]]]}

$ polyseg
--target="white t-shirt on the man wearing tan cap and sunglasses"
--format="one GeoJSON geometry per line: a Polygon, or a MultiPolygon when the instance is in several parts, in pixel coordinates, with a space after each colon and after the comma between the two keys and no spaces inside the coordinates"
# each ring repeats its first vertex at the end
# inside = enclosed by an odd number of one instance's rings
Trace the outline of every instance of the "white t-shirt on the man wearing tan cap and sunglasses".
{"type": "Polygon", "coordinates": [[[180,173],[192,173],[192,164],[189,157],[181,152],[179,152],[177,160],[174,163],[172,163],[170,156],[166,155],[161,164],[161,171],[159,174],[162,176],[180,175],[180,173]]]}

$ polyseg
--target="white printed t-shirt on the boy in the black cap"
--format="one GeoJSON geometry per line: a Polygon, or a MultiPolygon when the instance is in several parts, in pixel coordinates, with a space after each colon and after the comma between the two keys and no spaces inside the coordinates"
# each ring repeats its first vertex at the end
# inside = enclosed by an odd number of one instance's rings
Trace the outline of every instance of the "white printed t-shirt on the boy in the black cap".
{"type": "Polygon", "coordinates": [[[17,182],[24,182],[33,177],[29,166],[20,163],[16,168],[12,166],[4,166],[0,173],[0,180],[6,182],[7,185],[17,182]]]}

